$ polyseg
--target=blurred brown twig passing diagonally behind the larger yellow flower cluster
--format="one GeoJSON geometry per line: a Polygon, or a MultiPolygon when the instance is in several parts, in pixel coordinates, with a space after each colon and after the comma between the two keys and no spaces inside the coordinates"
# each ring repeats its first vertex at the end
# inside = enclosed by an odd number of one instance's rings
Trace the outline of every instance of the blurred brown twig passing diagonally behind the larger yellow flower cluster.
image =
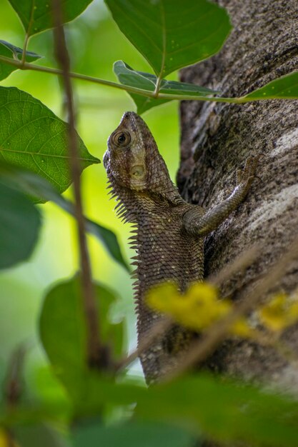
{"type": "MultiPolygon", "coordinates": [[[[247,266],[251,265],[255,259],[257,258],[257,255],[259,253],[259,249],[257,246],[252,246],[251,248],[248,248],[244,253],[240,253],[240,255],[232,261],[232,263],[229,263],[226,267],[224,267],[217,275],[209,276],[206,281],[212,282],[215,285],[219,285],[222,282],[229,279],[234,273],[237,271],[240,271],[244,268],[247,268],[247,266]]],[[[125,368],[128,366],[131,362],[133,362],[138,356],[141,355],[141,353],[144,353],[151,344],[154,342],[155,338],[158,336],[162,336],[164,333],[166,333],[169,328],[172,326],[174,322],[171,318],[163,318],[158,323],[154,324],[152,328],[150,329],[149,333],[146,334],[146,338],[144,338],[141,343],[139,343],[139,346],[132,351],[129,356],[126,358],[123,358],[119,362],[119,368],[125,368]]]]}

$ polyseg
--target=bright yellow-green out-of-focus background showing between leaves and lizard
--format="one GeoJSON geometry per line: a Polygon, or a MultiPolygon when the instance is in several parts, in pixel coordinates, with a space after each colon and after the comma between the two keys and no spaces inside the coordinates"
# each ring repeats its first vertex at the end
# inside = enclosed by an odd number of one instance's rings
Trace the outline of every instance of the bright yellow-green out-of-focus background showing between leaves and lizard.
{"type": "MultiPolygon", "coordinates": [[[[18,16],[8,1],[0,0],[0,4],[0,39],[22,47],[24,30],[18,16]]],[[[67,24],[66,33],[73,71],[115,81],[112,66],[114,61],[122,59],[139,71],[152,72],[146,61],[117,29],[101,0],[92,2],[84,14],[67,24]]],[[[44,56],[39,61],[40,64],[56,66],[51,31],[34,36],[29,41],[28,49],[44,56]]],[[[171,79],[175,77],[170,76],[171,79]]],[[[14,71],[1,85],[16,86],[32,94],[65,119],[61,84],[56,76],[36,71],[14,71]]],[[[98,84],[75,81],[74,90],[79,134],[89,152],[102,160],[109,134],[118,125],[124,111],[135,110],[134,104],[124,91],[98,84]]],[[[144,119],[152,129],[174,179],[179,163],[177,102],[149,111],[144,119]]],[[[106,195],[103,164],[86,169],[81,180],[85,214],[111,228],[119,238],[123,253],[126,257],[131,256],[127,243],[129,226],[124,226],[116,219],[114,202],[109,201],[106,195]]],[[[66,196],[70,197],[71,191],[66,191],[66,196]]],[[[54,204],[45,204],[40,208],[44,223],[33,256],[25,263],[0,272],[0,375],[4,375],[5,366],[14,348],[19,343],[29,342],[31,349],[26,358],[27,381],[29,385],[31,383],[34,393],[42,394],[50,391],[50,379],[48,372],[45,372],[46,357],[38,338],[41,303],[46,290],[52,284],[69,278],[76,272],[78,252],[74,220],[54,204]]],[[[125,316],[129,346],[132,348],[136,343],[136,330],[131,278],[109,258],[94,237],[89,236],[88,243],[94,279],[114,289],[119,296],[114,316],[125,316]]],[[[137,364],[131,368],[131,373],[141,374],[137,364]]]]}

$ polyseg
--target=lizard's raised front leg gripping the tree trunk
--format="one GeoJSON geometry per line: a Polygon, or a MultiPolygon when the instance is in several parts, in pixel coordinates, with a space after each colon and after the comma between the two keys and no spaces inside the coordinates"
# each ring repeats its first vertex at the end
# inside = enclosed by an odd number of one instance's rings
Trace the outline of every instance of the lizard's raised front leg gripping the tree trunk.
{"type": "Polygon", "coordinates": [[[193,206],[184,214],[184,227],[192,236],[206,236],[222,224],[229,214],[239,206],[247,195],[247,191],[252,184],[254,174],[257,169],[259,156],[249,157],[244,166],[244,170],[237,170],[237,186],[232,194],[221,204],[214,206],[202,214],[202,208],[193,206]]]}

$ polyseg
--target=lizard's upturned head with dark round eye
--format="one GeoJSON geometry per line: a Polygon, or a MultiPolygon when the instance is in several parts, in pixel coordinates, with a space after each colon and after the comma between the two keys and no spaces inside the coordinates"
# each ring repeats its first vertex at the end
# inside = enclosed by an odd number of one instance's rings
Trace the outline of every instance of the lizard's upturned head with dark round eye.
{"type": "Polygon", "coordinates": [[[134,112],[126,112],[109,136],[104,167],[112,184],[135,191],[165,195],[174,187],[152,133],[134,112]]]}

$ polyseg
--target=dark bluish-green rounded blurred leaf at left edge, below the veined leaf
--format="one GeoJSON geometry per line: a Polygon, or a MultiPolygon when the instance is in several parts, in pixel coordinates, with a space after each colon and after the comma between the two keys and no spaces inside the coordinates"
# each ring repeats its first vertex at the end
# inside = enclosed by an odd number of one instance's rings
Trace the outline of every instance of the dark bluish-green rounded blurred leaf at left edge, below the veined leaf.
{"type": "Polygon", "coordinates": [[[36,244],[39,211],[19,191],[0,183],[0,268],[25,261],[36,244]]]}

